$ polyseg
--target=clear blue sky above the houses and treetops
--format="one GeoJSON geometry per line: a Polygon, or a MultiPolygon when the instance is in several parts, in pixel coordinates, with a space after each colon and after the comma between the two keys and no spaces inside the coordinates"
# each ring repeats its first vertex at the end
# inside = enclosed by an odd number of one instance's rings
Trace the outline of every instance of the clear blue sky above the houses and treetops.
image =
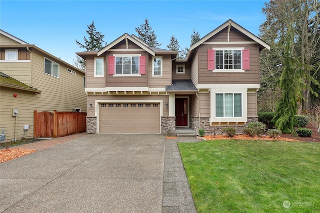
{"type": "Polygon", "coordinates": [[[86,25],[92,21],[104,41],[112,42],[147,18],[157,40],[166,48],[174,35],[181,48],[189,47],[193,29],[203,37],[228,19],[258,35],[267,0],[0,0],[0,28],[72,64],[75,52],[85,51],[86,25]]]}

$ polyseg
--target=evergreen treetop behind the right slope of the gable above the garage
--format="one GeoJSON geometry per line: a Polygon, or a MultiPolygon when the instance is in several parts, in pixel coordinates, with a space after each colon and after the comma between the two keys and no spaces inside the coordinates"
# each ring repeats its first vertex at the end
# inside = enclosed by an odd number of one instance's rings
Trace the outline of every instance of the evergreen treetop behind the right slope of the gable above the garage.
{"type": "Polygon", "coordinates": [[[149,44],[151,47],[158,47],[161,44],[156,40],[156,35],[152,27],[149,26],[148,19],[144,20],[139,27],[135,27],[135,31],[138,33],[138,38],[140,38],[145,43],[149,44]]]}

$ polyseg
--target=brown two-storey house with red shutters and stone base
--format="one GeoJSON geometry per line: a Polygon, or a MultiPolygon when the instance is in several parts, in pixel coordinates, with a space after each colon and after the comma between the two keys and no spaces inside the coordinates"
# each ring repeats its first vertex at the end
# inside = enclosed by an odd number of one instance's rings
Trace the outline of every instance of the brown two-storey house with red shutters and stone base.
{"type": "Polygon", "coordinates": [[[127,33],[86,60],[87,133],[210,131],[257,121],[259,53],[270,46],[232,20],[177,52],[127,33]]]}

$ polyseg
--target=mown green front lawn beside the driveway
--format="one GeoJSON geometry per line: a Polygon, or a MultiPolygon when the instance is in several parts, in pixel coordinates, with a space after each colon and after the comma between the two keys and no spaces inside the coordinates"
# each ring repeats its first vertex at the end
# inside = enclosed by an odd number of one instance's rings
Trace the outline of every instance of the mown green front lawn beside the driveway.
{"type": "Polygon", "coordinates": [[[320,213],[318,143],[214,140],[178,148],[198,213],[320,213]]]}

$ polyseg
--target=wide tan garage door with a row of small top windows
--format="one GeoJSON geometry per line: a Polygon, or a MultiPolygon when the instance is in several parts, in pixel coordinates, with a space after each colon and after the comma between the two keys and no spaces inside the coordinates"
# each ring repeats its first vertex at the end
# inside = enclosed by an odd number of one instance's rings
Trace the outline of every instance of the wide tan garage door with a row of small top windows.
{"type": "Polygon", "coordinates": [[[160,133],[160,104],[100,103],[99,133],[160,133]]]}

